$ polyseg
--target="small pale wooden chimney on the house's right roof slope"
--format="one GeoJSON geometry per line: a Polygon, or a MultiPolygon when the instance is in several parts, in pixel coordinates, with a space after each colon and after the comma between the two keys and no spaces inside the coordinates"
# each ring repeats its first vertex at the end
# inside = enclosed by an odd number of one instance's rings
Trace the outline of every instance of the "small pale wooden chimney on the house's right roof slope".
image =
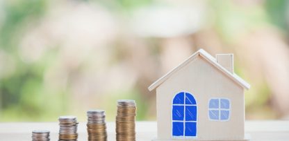
{"type": "Polygon", "coordinates": [[[217,54],[217,63],[226,68],[230,73],[234,73],[234,55],[233,54],[217,54]]]}

